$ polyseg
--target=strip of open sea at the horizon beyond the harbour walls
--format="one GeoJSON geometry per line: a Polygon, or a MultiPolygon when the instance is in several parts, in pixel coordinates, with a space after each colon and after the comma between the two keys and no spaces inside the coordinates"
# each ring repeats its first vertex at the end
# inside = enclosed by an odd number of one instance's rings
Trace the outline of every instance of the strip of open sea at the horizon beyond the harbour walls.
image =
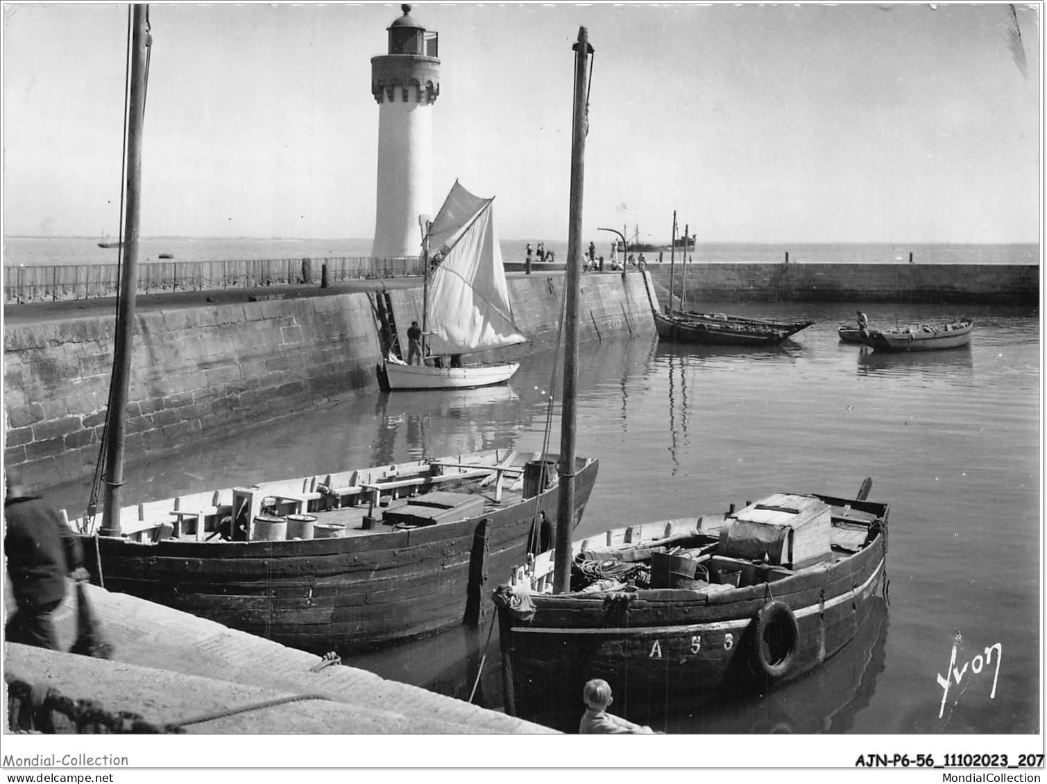
{"type": "MultiPolygon", "coordinates": [[[[668,241],[669,231],[665,239],[668,241]]],[[[596,243],[597,255],[610,259],[610,240],[615,235],[596,232],[584,240],[596,243]]],[[[115,239],[116,237],[110,237],[115,239]]],[[[115,263],[116,251],[98,248],[102,237],[4,237],[3,263],[19,264],[95,264],[115,263]]],[[[522,261],[527,244],[537,249],[544,241],[545,249],[556,254],[557,261],[567,258],[567,244],[563,240],[503,239],[502,255],[507,261],[522,261]]],[[[631,241],[631,238],[630,238],[631,241]]],[[[644,240],[646,241],[646,239],[644,240]]],[[[789,254],[796,263],[908,263],[909,254],[917,263],[982,263],[982,264],[1035,264],[1040,261],[1037,245],[920,245],[887,243],[870,244],[804,244],[783,243],[760,245],[756,243],[699,243],[692,257],[707,262],[779,262],[789,254]]],[[[259,258],[322,258],[325,256],[366,256],[371,254],[370,239],[260,239],[235,237],[142,237],[140,260],[159,261],[160,254],[171,254],[175,261],[221,261],[259,258]]],[[[647,260],[658,259],[658,253],[645,254],[647,260]]],[[[680,254],[676,254],[680,259],[680,254]]],[[[664,254],[665,263],[669,254],[664,254]]]]}

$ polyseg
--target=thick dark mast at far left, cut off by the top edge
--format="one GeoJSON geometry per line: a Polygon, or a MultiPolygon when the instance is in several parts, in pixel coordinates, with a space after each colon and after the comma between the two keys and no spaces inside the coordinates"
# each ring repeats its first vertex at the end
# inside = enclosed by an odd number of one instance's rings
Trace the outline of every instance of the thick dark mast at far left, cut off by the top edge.
{"type": "Polygon", "coordinates": [[[127,211],[124,215],[124,270],[116,309],[113,342],[113,376],[110,382],[109,416],[106,435],[105,495],[102,529],[104,535],[120,530],[120,497],[124,489],[124,437],[127,431],[128,386],[134,339],[135,290],[137,287],[138,233],[141,223],[141,131],[146,114],[146,69],[152,37],[149,6],[131,6],[131,94],[128,101],[127,211]]]}

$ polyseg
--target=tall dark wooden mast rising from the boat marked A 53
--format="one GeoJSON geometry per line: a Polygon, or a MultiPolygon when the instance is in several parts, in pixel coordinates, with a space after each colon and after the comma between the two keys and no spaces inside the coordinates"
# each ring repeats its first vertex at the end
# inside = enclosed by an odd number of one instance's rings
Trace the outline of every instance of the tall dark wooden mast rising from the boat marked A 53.
{"type": "MultiPolygon", "coordinates": [[[[585,184],[588,30],[578,28],[575,50],[575,108],[571,139],[571,211],[567,226],[567,269],[564,272],[563,402],[560,420],[560,503],[556,515],[556,559],[553,593],[571,590],[571,529],[575,518],[575,387],[578,384],[578,299],[581,294],[582,191],[585,184]]],[[[623,249],[624,250],[624,249],[623,249]]]]}

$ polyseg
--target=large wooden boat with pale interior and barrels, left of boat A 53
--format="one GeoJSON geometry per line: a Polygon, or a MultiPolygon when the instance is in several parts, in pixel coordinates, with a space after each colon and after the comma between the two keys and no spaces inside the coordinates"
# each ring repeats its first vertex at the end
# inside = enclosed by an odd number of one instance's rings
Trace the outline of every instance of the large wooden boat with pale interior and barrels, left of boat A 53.
{"type": "MultiPolygon", "coordinates": [[[[118,535],[72,525],[110,591],[343,653],[475,622],[485,575],[552,544],[555,461],[473,453],[151,501],[118,535]]],[[[597,469],[575,461],[575,524],[597,469]]]]}

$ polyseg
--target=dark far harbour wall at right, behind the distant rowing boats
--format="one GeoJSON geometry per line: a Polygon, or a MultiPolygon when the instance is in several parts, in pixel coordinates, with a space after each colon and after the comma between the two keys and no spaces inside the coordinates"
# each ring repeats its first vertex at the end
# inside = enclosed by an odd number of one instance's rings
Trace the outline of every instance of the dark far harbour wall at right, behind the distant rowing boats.
{"type": "Polygon", "coordinates": [[[687,302],[927,302],[1037,304],[1037,264],[648,263],[668,301],[669,278],[687,302]]]}

